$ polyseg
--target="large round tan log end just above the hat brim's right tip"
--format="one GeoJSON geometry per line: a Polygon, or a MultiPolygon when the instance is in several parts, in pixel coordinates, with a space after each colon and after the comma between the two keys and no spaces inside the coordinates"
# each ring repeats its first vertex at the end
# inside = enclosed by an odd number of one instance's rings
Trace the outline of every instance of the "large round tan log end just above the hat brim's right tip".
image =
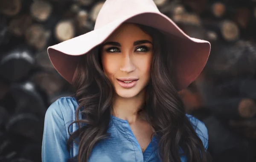
{"type": "Polygon", "coordinates": [[[236,23],[230,20],[225,20],[221,24],[221,33],[227,41],[235,41],[239,38],[239,28],[236,23]]]}

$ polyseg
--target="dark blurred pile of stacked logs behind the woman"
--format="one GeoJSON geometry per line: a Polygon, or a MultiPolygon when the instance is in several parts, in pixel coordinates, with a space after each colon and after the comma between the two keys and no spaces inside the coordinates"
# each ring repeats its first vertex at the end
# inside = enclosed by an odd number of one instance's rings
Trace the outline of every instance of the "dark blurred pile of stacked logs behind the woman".
{"type": "MultiPolygon", "coordinates": [[[[256,0],[154,0],[212,51],[180,91],[213,162],[256,162],[256,0]]],[[[0,0],[0,162],[41,162],[44,115],[73,94],[47,47],[93,30],[103,0],[0,0]]],[[[184,47],[186,48],[186,47],[184,47]]]]}

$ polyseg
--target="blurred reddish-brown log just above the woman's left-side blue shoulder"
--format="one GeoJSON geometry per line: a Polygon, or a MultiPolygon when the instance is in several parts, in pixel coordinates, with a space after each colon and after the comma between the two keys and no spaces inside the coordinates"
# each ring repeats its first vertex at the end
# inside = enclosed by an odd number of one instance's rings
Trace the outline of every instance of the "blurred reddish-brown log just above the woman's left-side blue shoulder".
{"type": "Polygon", "coordinates": [[[33,74],[29,80],[45,91],[47,96],[62,91],[66,83],[57,72],[51,71],[39,71],[33,74]]]}

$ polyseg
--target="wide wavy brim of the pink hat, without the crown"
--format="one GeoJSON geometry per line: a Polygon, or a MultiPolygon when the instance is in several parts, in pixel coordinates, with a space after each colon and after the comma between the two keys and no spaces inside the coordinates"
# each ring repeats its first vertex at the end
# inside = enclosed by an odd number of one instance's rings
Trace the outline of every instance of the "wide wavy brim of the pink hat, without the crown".
{"type": "Polygon", "coordinates": [[[122,23],[139,23],[164,33],[166,44],[172,48],[177,90],[186,88],[203,70],[210,53],[210,43],[186,35],[169,17],[147,12],[122,17],[101,28],[48,47],[52,65],[65,80],[72,83],[80,55],[103,43],[122,23]]]}

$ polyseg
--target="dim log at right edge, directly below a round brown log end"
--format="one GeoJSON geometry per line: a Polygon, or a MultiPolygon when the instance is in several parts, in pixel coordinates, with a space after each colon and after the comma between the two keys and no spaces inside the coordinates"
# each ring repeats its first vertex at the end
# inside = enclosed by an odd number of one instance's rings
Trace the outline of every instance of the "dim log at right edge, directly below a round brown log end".
{"type": "Polygon", "coordinates": [[[236,131],[236,133],[256,139],[256,119],[243,119],[243,120],[229,120],[229,126],[236,131]]]}

